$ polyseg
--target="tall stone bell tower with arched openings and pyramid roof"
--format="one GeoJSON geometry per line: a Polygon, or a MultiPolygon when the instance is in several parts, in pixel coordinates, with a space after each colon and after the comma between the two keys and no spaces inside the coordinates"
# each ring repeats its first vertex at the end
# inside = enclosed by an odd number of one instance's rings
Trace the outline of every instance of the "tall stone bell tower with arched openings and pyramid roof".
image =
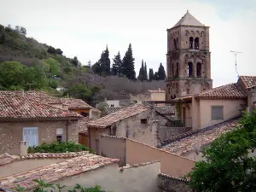
{"type": "Polygon", "coordinates": [[[209,26],[188,11],[167,39],[166,101],[212,89],[209,26]]]}

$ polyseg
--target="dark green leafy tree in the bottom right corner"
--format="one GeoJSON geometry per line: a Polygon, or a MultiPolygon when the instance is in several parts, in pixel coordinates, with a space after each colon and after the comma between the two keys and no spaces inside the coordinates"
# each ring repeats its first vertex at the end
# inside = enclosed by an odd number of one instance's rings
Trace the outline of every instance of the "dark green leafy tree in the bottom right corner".
{"type": "Polygon", "coordinates": [[[244,113],[241,128],[218,137],[202,151],[205,160],[189,172],[190,186],[197,191],[255,191],[256,111],[244,113]]]}

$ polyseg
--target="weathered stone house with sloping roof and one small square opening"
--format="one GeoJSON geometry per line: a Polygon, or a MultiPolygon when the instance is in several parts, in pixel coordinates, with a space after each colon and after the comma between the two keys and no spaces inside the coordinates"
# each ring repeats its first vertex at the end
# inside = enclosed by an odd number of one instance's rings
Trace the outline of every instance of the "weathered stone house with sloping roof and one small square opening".
{"type": "Polygon", "coordinates": [[[87,124],[90,136],[90,148],[101,154],[101,135],[129,137],[142,143],[158,146],[158,121],[152,107],[136,104],[110,113],[87,124]]]}

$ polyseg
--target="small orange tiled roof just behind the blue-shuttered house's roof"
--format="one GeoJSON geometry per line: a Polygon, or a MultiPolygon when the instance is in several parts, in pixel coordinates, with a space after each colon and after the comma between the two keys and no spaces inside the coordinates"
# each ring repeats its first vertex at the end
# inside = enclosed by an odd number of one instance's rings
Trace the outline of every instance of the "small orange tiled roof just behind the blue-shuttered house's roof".
{"type": "Polygon", "coordinates": [[[61,98],[61,102],[64,105],[67,105],[68,109],[90,109],[90,108],[92,108],[89,104],[84,102],[82,99],[61,98]]]}

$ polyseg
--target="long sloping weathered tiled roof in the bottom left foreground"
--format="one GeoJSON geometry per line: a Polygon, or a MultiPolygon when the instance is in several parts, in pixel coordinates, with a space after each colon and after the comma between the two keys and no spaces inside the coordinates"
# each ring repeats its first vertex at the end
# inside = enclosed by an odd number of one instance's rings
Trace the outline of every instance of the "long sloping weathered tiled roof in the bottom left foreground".
{"type": "Polygon", "coordinates": [[[96,154],[84,154],[61,163],[41,166],[28,172],[2,177],[0,187],[13,190],[16,188],[17,184],[20,184],[20,187],[24,187],[26,190],[33,189],[38,186],[33,182],[33,180],[37,178],[52,183],[64,177],[78,175],[82,172],[88,172],[117,162],[119,162],[119,160],[98,156],[96,154]]]}

